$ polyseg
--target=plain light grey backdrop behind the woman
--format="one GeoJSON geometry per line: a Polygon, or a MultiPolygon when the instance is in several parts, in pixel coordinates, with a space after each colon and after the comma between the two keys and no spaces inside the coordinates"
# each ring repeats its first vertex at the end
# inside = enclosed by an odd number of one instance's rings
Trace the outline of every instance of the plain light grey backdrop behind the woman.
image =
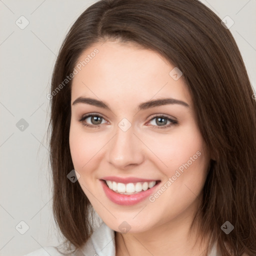
{"type": "MultiPolygon", "coordinates": [[[[50,77],[71,24],[96,0],[0,0],[0,255],[57,245],[46,128],[50,77]],[[27,22],[29,24],[21,29],[27,22]],[[17,20],[17,21],[16,21],[17,20]],[[15,23],[17,22],[18,25],[15,23]],[[23,118],[28,127],[16,123],[23,118]],[[26,224],[20,221],[24,221],[26,224]]],[[[256,0],[202,0],[229,28],[255,90],[256,0]]],[[[20,121],[22,122],[22,121],[20,121]]]]}

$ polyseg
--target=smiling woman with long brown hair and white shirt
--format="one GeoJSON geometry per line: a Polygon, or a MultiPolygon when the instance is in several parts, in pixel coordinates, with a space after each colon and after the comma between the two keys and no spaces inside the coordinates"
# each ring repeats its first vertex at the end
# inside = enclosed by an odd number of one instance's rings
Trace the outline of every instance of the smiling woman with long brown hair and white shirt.
{"type": "Polygon", "coordinates": [[[231,33],[202,3],[91,5],[48,97],[68,246],[29,256],[256,254],[256,103],[231,33]]]}

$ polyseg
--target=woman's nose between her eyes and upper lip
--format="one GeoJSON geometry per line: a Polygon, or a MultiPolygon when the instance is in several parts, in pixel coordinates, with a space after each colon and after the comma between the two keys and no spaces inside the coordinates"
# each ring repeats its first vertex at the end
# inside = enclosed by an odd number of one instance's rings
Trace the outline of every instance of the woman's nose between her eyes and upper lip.
{"type": "Polygon", "coordinates": [[[114,137],[109,141],[108,162],[116,169],[139,165],[144,160],[143,143],[133,132],[132,125],[126,131],[117,126],[114,137]]]}

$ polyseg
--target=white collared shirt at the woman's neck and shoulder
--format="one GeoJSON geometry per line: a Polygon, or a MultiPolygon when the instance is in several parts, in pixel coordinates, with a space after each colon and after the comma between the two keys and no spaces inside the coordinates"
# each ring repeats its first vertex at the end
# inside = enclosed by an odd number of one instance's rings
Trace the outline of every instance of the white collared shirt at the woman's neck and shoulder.
{"type": "MultiPolygon", "coordinates": [[[[97,227],[80,250],[72,254],[62,254],[55,246],[46,246],[24,256],[115,256],[114,230],[104,222],[97,227]]],[[[220,256],[216,252],[216,243],[207,256],[220,256]]]]}

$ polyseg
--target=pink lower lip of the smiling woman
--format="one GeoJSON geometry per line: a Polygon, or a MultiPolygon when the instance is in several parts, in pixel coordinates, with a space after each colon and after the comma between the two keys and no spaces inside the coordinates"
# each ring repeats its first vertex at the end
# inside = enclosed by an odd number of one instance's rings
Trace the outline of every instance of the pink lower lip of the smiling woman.
{"type": "Polygon", "coordinates": [[[116,204],[120,204],[120,205],[133,205],[136,204],[138,202],[141,202],[142,200],[144,200],[146,197],[148,197],[151,193],[153,193],[153,191],[155,190],[155,188],[159,185],[159,183],[157,183],[156,185],[154,185],[153,187],[145,190],[145,191],[141,191],[139,193],[136,194],[118,194],[116,192],[114,192],[112,189],[110,189],[107,184],[105,183],[105,181],[103,181],[102,179],[99,180],[102,184],[103,190],[106,194],[106,196],[114,203],[116,204]]]}

